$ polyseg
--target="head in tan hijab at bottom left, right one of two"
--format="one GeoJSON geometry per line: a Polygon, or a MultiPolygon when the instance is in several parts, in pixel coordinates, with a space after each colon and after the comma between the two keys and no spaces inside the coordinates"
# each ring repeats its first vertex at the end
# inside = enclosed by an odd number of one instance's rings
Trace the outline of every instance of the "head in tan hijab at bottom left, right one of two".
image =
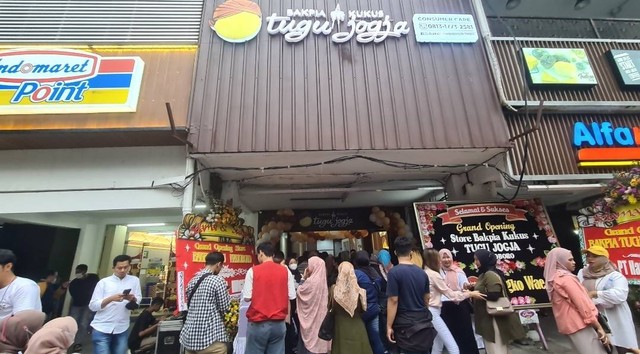
{"type": "Polygon", "coordinates": [[[73,317],[53,319],[31,337],[24,354],[66,354],[76,332],[78,324],[73,317]]]}

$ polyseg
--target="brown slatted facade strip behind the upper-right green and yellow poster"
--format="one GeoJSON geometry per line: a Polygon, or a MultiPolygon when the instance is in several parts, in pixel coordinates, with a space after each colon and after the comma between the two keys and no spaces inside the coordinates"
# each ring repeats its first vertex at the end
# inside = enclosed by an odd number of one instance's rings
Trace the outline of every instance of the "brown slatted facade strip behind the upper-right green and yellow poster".
{"type": "MultiPolygon", "coordinates": [[[[502,87],[507,101],[523,101],[522,95],[522,58],[517,52],[513,39],[493,39],[500,71],[502,87]]],[[[545,100],[549,105],[560,102],[630,102],[640,101],[640,91],[623,91],[620,89],[613,67],[606,52],[611,49],[640,50],[640,43],[612,41],[564,41],[564,40],[518,40],[521,48],[583,48],[589,57],[591,67],[598,84],[590,89],[549,89],[530,90],[528,99],[545,100]]]]}

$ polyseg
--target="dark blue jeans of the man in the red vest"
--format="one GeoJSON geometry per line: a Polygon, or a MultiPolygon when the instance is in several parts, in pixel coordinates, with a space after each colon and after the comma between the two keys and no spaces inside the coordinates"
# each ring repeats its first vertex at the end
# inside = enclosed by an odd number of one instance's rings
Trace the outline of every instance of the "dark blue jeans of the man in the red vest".
{"type": "Polygon", "coordinates": [[[245,354],[284,353],[284,337],[286,333],[287,329],[284,320],[249,322],[245,354]]]}

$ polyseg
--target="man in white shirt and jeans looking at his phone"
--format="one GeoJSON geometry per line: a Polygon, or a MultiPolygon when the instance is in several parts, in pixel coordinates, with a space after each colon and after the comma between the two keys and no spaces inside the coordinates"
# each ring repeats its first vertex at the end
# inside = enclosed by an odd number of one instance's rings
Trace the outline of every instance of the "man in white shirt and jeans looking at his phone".
{"type": "Polygon", "coordinates": [[[142,297],[140,280],[129,275],[131,257],[113,259],[113,275],[98,282],[89,309],[96,313],[91,321],[94,354],[127,354],[131,310],[142,297]]]}

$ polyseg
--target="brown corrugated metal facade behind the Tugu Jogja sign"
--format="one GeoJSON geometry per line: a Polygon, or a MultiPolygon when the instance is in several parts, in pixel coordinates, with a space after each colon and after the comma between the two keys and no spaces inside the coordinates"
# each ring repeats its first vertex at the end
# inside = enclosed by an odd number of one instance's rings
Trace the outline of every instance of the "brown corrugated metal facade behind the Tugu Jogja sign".
{"type": "Polygon", "coordinates": [[[288,43],[264,23],[287,8],[328,15],[339,3],[344,11],[383,10],[413,27],[416,13],[471,14],[471,1],[257,1],[263,27],[244,44],[209,28],[221,3],[205,8],[190,120],[195,152],[507,146],[481,41],[421,44],[412,29],[378,44],[336,44],[313,33],[288,43]]]}

